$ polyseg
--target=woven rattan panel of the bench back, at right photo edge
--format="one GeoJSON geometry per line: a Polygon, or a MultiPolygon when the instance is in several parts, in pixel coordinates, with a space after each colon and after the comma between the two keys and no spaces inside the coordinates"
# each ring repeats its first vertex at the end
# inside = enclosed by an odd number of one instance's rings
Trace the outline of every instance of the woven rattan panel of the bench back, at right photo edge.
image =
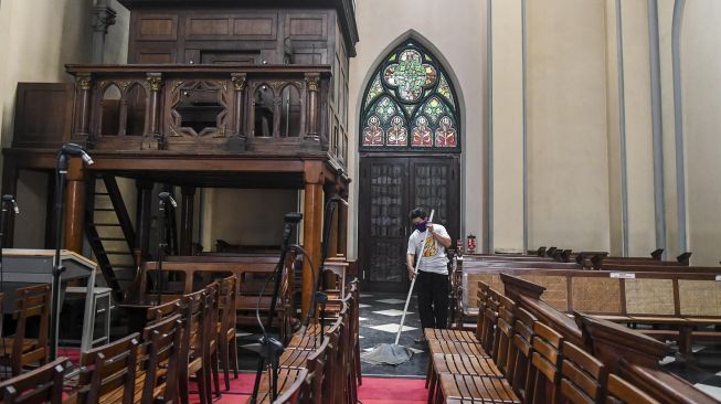
{"type": "Polygon", "coordinates": [[[681,316],[721,316],[721,281],[678,280],[681,316]]]}

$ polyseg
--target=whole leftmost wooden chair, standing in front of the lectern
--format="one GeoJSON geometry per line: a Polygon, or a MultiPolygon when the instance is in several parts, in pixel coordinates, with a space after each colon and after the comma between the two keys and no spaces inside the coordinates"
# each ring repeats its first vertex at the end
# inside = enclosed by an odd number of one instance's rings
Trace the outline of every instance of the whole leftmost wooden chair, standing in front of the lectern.
{"type": "Polygon", "coordinates": [[[47,362],[47,337],[50,336],[50,290],[51,286],[36,285],[15,290],[15,310],[12,315],[18,321],[15,334],[2,339],[0,364],[9,365],[17,376],[22,369],[32,363],[47,362]],[[38,336],[28,336],[29,321],[38,321],[38,336]]]}

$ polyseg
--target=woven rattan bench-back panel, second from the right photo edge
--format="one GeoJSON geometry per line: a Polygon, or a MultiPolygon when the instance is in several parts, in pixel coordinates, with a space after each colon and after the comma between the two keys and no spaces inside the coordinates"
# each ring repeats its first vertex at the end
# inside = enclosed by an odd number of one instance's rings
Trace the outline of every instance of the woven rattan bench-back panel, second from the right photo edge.
{"type": "Polygon", "coordinates": [[[672,316],[672,279],[625,279],[626,311],[628,315],[672,316]]]}

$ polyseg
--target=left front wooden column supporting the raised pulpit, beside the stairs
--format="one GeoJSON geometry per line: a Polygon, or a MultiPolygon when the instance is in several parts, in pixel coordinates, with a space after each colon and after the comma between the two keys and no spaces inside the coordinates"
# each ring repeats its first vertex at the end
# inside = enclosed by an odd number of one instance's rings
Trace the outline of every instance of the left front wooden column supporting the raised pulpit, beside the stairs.
{"type": "Polygon", "coordinates": [[[83,160],[70,159],[65,192],[65,248],[83,254],[85,230],[85,170],[83,160]]]}

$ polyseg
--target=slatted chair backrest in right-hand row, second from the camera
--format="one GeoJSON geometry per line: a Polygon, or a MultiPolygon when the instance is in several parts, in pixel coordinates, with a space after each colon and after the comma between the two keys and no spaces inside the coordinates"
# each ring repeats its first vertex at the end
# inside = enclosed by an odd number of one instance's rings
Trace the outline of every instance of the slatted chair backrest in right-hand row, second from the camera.
{"type": "Polygon", "coordinates": [[[574,404],[598,403],[604,394],[606,366],[571,342],[563,342],[561,395],[574,404]]]}

